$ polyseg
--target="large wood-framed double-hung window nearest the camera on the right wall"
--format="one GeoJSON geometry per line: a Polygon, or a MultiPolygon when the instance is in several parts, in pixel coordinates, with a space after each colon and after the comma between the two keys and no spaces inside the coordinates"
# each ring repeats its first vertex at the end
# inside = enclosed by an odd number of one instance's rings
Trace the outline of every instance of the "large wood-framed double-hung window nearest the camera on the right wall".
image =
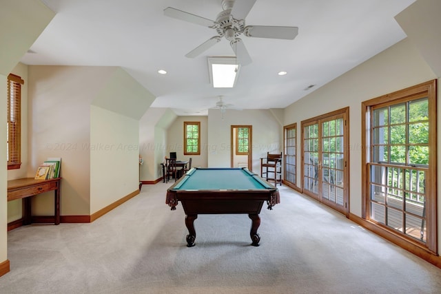
{"type": "Polygon", "coordinates": [[[369,130],[364,154],[365,217],[433,252],[437,250],[435,91],[431,81],[363,103],[369,130]]]}

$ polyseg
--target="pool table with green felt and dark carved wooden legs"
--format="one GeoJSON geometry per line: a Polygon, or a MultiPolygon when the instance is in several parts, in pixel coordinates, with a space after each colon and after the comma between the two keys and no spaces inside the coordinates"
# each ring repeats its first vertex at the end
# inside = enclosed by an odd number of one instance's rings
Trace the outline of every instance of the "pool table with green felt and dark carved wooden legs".
{"type": "Polygon", "coordinates": [[[181,201],[188,229],[187,246],[194,246],[194,220],[198,214],[247,213],[252,220],[249,233],[253,246],[259,246],[260,209],[280,202],[278,189],[247,168],[194,168],[167,189],[165,203],[172,210],[181,201]]]}

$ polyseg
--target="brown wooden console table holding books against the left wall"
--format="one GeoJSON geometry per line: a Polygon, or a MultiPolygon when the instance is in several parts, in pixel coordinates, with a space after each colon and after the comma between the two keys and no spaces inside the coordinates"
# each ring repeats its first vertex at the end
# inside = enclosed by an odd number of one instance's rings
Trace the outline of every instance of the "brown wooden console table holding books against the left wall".
{"type": "Polygon", "coordinates": [[[23,224],[32,223],[31,196],[48,191],[54,191],[54,224],[60,224],[60,180],[61,178],[8,180],[8,201],[23,199],[23,224]]]}

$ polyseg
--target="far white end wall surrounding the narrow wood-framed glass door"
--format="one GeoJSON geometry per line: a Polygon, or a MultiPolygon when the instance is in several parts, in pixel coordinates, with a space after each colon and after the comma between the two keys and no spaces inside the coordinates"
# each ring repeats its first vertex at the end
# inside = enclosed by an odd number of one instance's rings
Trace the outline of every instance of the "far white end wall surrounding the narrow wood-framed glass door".
{"type": "Polygon", "coordinates": [[[260,157],[282,151],[283,128],[270,110],[227,109],[224,119],[219,109],[208,109],[208,167],[230,167],[231,126],[252,125],[252,171],[260,174],[260,157]]]}

